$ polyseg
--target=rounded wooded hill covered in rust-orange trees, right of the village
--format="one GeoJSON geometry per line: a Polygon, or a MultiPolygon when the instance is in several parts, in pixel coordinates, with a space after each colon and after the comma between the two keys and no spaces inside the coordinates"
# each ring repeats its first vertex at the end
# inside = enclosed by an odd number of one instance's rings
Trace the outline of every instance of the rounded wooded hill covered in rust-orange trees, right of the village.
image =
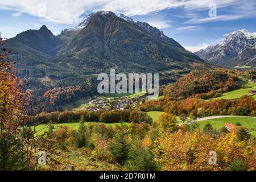
{"type": "MultiPolygon", "coordinates": [[[[175,84],[167,86],[164,95],[170,98],[187,98],[196,94],[209,94],[229,92],[238,88],[238,77],[225,70],[192,71],[181,77],[175,84]]],[[[207,97],[204,95],[204,97],[207,97]]]]}

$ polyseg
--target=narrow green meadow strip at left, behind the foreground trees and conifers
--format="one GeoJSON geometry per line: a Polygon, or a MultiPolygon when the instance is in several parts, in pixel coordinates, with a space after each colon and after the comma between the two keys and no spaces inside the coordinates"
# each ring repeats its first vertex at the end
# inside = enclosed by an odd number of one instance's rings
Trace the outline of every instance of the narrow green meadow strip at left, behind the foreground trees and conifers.
{"type": "MultiPolygon", "coordinates": [[[[90,123],[92,122],[86,122],[85,125],[89,125],[90,123]]],[[[130,123],[123,123],[125,125],[129,125],[130,123]]],[[[60,123],[60,124],[53,124],[54,125],[54,129],[56,130],[58,127],[61,127],[61,126],[68,126],[74,130],[77,130],[79,129],[79,125],[80,123],[60,123]]],[[[114,125],[121,125],[121,123],[105,123],[106,126],[114,126],[114,125]]],[[[49,127],[47,124],[44,124],[44,125],[38,125],[36,126],[36,135],[42,135],[44,133],[44,131],[48,131],[49,130],[49,127]]]]}

